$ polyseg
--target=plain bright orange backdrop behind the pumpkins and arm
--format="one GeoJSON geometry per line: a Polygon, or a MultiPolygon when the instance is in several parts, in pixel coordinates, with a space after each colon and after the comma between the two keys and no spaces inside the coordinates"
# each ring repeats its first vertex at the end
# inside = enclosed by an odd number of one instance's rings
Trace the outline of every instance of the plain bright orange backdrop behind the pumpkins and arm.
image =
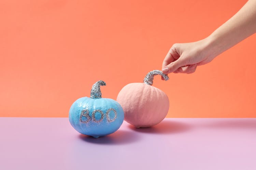
{"type": "MultiPolygon", "coordinates": [[[[98,80],[104,98],[161,69],[174,43],[200,40],[246,2],[1,0],[0,116],[68,117],[98,80]]],[[[168,117],[256,117],[256,35],[193,74],[155,77],[168,117]]]]}

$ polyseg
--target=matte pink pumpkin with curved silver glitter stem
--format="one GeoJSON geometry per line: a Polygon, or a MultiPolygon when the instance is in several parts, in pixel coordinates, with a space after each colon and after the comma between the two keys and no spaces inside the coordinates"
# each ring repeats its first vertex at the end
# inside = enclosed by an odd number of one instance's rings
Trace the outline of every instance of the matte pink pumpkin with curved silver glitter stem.
{"type": "Polygon", "coordinates": [[[146,128],[160,123],[169,110],[169,99],[165,92],[153,87],[155,75],[161,75],[166,81],[169,77],[160,70],[149,72],[144,83],[130,83],[122,88],[116,101],[121,104],[125,121],[136,128],[146,128]]]}

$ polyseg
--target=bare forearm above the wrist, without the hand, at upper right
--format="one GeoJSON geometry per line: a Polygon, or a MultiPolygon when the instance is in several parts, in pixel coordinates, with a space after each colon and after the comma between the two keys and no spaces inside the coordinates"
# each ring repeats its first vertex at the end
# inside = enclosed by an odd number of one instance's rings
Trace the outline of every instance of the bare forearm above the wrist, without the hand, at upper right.
{"type": "Polygon", "coordinates": [[[207,37],[209,51],[219,55],[256,32],[256,0],[249,0],[232,18],[207,37]]]}

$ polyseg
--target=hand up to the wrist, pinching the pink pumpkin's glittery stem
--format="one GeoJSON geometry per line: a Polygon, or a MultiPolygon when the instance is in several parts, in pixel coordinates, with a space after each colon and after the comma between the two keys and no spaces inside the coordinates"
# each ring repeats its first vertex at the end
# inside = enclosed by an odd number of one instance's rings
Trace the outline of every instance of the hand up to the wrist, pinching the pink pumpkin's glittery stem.
{"type": "Polygon", "coordinates": [[[162,63],[162,71],[168,73],[193,73],[197,66],[211,62],[217,52],[208,39],[193,43],[174,44],[162,63]]]}

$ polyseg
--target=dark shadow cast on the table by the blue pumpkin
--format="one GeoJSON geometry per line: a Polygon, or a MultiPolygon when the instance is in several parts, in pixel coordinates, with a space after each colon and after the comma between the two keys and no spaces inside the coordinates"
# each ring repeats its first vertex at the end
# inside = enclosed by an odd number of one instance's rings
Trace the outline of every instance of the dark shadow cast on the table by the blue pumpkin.
{"type": "Polygon", "coordinates": [[[79,138],[83,141],[99,145],[125,145],[138,141],[140,137],[138,134],[133,133],[132,131],[117,130],[110,135],[99,138],[94,138],[92,136],[83,134],[80,134],[79,138]]]}

